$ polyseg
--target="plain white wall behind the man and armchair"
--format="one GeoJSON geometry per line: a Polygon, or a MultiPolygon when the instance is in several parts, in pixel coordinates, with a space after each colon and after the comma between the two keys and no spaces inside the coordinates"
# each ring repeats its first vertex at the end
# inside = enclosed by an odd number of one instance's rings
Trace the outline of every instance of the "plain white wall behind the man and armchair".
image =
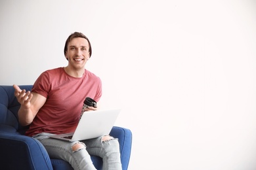
{"type": "Polygon", "coordinates": [[[89,37],[129,169],[256,169],[255,1],[0,1],[0,84],[33,84],[89,37]]]}

